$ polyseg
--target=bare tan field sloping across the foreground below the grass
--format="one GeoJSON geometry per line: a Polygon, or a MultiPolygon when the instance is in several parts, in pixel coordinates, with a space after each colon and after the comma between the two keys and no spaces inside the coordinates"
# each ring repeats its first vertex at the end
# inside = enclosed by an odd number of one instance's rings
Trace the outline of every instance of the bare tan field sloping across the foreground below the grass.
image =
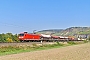
{"type": "Polygon", "coordinates": [[[90,43],[0,56],[0,60],[90,60],[90,43]]]}

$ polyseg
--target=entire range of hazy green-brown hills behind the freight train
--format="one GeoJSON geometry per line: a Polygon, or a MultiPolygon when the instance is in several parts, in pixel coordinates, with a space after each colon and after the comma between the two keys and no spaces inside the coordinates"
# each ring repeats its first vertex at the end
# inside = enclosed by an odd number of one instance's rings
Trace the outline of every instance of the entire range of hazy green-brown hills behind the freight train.
{"type": "Polygon", "coordinates": [[[77,34],[90,34],[90,27],[70,27],[67,29],[50,29],[42,30],[37,33],[42,34],[53,34],[53,35],[62,35],[62,36],[73,36],[77,34]]]}

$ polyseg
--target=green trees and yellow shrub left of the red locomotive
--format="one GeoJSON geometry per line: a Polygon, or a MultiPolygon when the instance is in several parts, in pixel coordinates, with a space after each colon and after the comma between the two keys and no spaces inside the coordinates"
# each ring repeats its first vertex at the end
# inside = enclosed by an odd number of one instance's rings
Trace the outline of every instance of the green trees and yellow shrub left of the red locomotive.
{"type": "Polygon", "coordinates": [[[18,34],[2,33],[0,34],[0,42],[19,42],[18,34]]]}

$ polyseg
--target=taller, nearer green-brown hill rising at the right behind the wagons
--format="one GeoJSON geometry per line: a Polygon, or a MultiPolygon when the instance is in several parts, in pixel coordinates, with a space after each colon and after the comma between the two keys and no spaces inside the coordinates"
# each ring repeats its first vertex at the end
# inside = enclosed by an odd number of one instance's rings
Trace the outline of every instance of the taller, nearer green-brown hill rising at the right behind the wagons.
{"type": "Polygon", "coordinates": [[[90,27],[71,27],[60,32],[61,35],[90,34],[90,27]]]}

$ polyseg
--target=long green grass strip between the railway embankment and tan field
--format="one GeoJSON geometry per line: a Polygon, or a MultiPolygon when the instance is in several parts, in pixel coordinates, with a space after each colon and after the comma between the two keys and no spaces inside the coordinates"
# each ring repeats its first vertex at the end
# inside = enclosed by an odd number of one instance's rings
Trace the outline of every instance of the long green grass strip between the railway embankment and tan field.
{"type": "Polygon", "coordinates": [[[75,45],[76,43],[74,42],[68,42],[68,44],[61,44],[59,42],[56,42],[56,44],[48,44],[48,45],[41,45],[37,46],[36,44],[32,44],[33,47],[31,46],[5,46],[5,47],[0,47],[0,56],[3,55],[9,55],[9,54],[17,54],[17,53],[22,53],[22,52],[31,52],[31,51],[38,51],[38,50],[47,50],[47,49],[53,49],[53,48],[60,48],[60,47],[65,47],[65,46],[70,46],[70,45],[75,45]]]}

